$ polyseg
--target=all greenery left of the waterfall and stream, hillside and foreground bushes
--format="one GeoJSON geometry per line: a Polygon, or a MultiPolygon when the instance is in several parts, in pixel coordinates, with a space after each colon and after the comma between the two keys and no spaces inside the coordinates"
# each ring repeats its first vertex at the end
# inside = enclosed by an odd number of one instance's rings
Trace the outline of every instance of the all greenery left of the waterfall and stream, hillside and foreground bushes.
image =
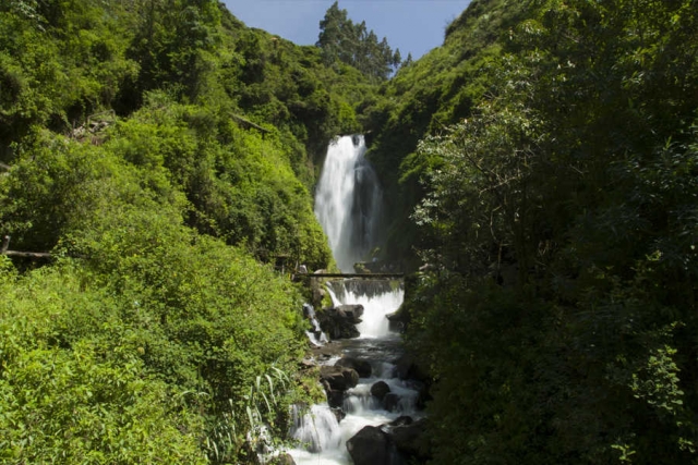
{"type": "Polygon", "coordinates": [[[0,4],[0,461],[239,463],[308,396],[317,160],[371,93],[213,0],[0,4]],[[288,268],[286,268],[288,269],[288,268]]]}

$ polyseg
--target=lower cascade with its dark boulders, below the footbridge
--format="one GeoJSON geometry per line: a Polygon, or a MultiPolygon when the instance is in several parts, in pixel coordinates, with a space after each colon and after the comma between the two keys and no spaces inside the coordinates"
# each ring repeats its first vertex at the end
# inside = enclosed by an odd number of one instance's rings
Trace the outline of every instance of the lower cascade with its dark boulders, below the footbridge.
{"type": "Polygon", "coordinates": [[[401,355],[399,328],[387,319],[402,303],[402,282],[346,279],[327,287],[335,308],[363,307],[360,335],[341,340],[337,354],[317,360],[327,402],[293,409],[298,448],[290,455],[298,465],[419,461],[414,438],[423,430],[423,384],[409,379],[413,370],[401,355]]]}

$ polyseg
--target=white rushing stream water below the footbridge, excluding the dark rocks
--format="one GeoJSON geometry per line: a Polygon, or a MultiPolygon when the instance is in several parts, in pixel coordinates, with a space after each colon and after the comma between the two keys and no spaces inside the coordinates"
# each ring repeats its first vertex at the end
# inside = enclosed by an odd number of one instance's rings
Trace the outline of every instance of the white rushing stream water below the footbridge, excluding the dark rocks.
{"type": "MultiPolygon", "coordinates": [[[[298,465],[351,464],[346,442],[365,426],[388,424],[399,416],[420,416],[416,404],[417,386],[395,376],[395,362],[400,356],[400,335],[388,327],[387,315],[402,303],[404,289],[389,281],[346,280],[335,282],[330,289],[337,304],[361,304],[364,307],[362,322],[357,326],[361,335],[342,340],[344,356],[371,363],[371,377],[360,378],[359,383],[345,394],[342,411],[346,416],[337,421],[327,403],[313,405],[310,412],[297,412],[294,439],[303,446],[290,451],[298,465]],[[366,292],[368,291],[368,292],[366,292]],[[395,402],[386,405],[371,394],[371,387],[384,381],[394,393],[395,402]]],[[[334,365],[337,359],[325,360],[334,365]]],[[[381,464],[376,464],[381,465],[381,464]]]]}

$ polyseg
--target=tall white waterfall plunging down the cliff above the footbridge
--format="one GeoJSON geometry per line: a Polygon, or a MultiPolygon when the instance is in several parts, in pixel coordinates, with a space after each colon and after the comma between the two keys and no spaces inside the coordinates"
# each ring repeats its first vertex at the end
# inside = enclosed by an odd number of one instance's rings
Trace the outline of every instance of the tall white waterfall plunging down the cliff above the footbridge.
{"type": "Polygon", "coordinates": [[[334,140],[315,192],[315,216],[342,272],[370,258],[378,241],[383,194],[365,151],[362,135],[334,140]]]}

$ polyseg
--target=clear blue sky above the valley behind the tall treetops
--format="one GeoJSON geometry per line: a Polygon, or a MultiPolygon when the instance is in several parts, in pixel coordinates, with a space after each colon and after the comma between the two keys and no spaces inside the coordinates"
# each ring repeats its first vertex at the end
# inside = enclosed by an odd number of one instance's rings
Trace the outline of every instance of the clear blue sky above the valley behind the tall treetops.
{"type": "MultiPolygon", "coordinates": [[[[298,45],[313,45],[320,21],[334,0],[224,0],[228,10],[250,27],[258,27],[298,45]]],[[[446,26],[470,0],[339,0],[354,23],[366,22],[378,39],[387,37],[402,58],[417,60],[444,41],[446,26]]]]}

